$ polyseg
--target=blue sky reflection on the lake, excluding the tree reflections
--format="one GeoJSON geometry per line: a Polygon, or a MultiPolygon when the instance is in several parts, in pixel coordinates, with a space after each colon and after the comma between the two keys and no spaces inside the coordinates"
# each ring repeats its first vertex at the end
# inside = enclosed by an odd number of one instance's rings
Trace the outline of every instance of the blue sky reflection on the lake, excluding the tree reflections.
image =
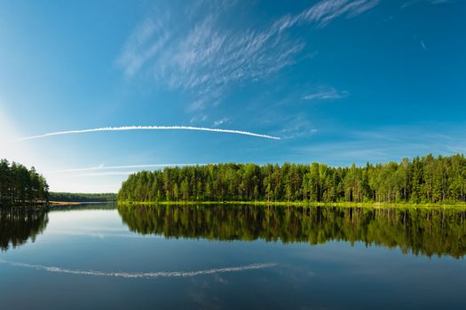
{"type": "Polygon", "coordinates": [[[2,309],[466,306],[464,259],[361,242],[142,236],[130,232],[116,210],[51,212],[36,242],[0,253],[0,259],[33,265],[0,264],[2,309]],[[277,265],[248,268],[268,262],[277,265]],[[158,272],[176,277],[143,276],[158,272]]]}

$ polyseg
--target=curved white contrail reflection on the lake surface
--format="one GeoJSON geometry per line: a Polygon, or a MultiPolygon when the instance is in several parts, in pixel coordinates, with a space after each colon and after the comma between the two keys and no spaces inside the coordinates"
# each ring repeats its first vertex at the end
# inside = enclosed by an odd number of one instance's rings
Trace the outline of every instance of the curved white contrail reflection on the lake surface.
{"type": "Polygon", "coordinates": [[[136,278],[145,278],[153,279],[159,277],[190,277],[196,275],[212,275],[220,273],[230,273],[237,271],[245,270],[257,270],[264,269],[269,267],[274,267],[277,264],[275,263],[261,263],[261,264],[250,264],[240,267],[225,267],[225,268],[216,268],[216,269],[205,269],[205,270],[194,270],[194,271],[158,271],[158,272],[147,272],[147,273],[129,273],[129,272],[103,272],[96,270],[79,270],[79,269],[66,269],[60,267],[47,267],[40,265],[30,265],[14,261],[0,260],[0,263],[10,264],[16,267],[28,267],[36,270],[44,270],[53,273],[59,274],[68,274],[68,275],[94,275],[94,276],[115,276],[122,277],[127,279],[136,279],[136,278]]]}

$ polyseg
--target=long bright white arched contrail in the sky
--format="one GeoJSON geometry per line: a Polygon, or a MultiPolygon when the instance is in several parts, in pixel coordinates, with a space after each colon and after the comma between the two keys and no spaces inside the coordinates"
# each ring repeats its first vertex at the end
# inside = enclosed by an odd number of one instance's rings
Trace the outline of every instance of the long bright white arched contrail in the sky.
{"type": "Polygon", "coordinates": [[[67,130],[67,131],[56,131],[39,136],[27,136],[20,138],[18,141],[41,139],[47,136],[60,136],[60,135],[73,135],[73,134],[84,134],[88,132],[98,131],[125,131],[125,130],[196,130],[196,131],[210,131],[220,132],[226,134],[237,134],[245,136],[257,136],[260,138],[280,140],[278,136],[260,135],[249,131],[232,130],[232,129],[219,129],[219,128],[203,128],[203,127],[192,127],[192,126],[123,126],[123,127],[104,127],[104,128],[92,128],[92,129],[80,129],[80,130],[67,130]]]}

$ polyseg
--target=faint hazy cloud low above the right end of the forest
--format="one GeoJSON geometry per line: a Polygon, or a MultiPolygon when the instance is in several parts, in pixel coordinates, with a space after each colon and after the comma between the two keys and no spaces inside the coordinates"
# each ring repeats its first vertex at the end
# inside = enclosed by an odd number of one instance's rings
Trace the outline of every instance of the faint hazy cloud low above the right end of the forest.
{"type": "Polygon", "coordinates": [[[333,142],[312,143],[300,146],[296,153],[309,154],[313,161],[331,165],[347,166],[351,162],[365,165],[399,161],[405,157],[428,153],[452,155],[466,152],[466,138],[461,133],[464,126],[437,123],[436,126],[398,126],[395,128],[374,128],[370,131],[350,131],[333,142]],[[436,128],[437,131],[432,131],[436,128]],[[408,133],[408,135],[407,135],[408,133]]]}

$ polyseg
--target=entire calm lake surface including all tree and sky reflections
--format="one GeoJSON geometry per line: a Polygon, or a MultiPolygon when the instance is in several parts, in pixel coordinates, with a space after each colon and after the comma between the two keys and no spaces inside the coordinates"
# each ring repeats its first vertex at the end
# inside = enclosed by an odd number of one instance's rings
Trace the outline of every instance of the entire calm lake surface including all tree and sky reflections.
{"type": "Polygon", "coordinates": [[[466,309],[466,212],[0,211],[1,309],[466,309]]]}

